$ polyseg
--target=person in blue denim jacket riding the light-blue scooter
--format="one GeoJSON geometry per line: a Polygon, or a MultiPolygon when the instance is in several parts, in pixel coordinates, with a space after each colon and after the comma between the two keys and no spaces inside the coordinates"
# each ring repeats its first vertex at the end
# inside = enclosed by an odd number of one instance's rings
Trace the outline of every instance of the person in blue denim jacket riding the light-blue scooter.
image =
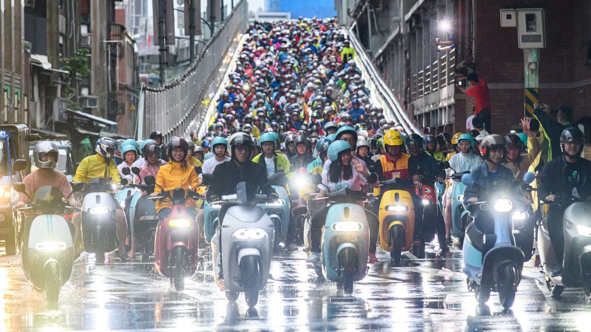
{"type": "Polygon", "coordinates": [[[480,144],[480,154],[484,158],[480,166],[474,168],[470,174],[474,183],[466,185],[464,189],[464,206],[475,217],[476,229],[482,233],[492,233],[494,223],[492,214],[488,210],[480,210],[471,204],[477,201],[490,201],[499,192],[514,190],[515,177],[509,168],[501,165],[506,155],[506,142],[501,135],[488,135],[480,144]]]}

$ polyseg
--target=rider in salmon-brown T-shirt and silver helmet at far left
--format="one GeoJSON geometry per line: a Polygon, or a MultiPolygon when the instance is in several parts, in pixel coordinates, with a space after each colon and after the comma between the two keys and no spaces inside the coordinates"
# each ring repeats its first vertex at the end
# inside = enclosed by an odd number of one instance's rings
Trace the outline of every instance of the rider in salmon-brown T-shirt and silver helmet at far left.
{"type": "MultiPolygon", "coordinates": [[[[30,200],[29,197],[34,197],[35,191],[46,185],[56,187],[61,191],[61,196],[67,198],[70,206],[76,206],[77,202],[72,194],[72,186],[68,182],[66,175],[60,171],[56,171],[57,160],[59,156],[59,149],[57,144],[50,141],[41,141],[35,144],[33,148],[33,163],[37,170],[31,172],[23,180],[22,184],[25,185],[25,193],[21,193],[19,196],[18,203],[15,204],[15,208],[24,207],[30,200]],[[28,197],[27,197],[28,195],[28,197]]],[[[27,217],[25,219],[24,231],[22,236],[22,268],[28,273],[28,235],[33,223],[33,217],[27,217]]],[[[69,223],[70,224],[70,223],[69,223]]],[[[74,241],[75,253],[74,257],[80,255],[79,248],[79,237],[80,237],[80,214],[74,214],[72,223],[70,224],[70,231],[72,232],[72,240],[74,241]]]]}

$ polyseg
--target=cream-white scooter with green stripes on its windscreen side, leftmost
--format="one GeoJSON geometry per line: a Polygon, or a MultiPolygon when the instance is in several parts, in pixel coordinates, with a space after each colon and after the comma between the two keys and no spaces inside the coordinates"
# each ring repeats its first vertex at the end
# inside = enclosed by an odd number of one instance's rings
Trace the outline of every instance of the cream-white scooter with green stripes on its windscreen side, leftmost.
{"type": "MultiPolygon", "coordinates": [[[[74,191],[79,191],[83,184],[73,184],[72,187],[74,191]]],[[[27,195],[24,184],[15,183],[13,188],[27,195]]],[[[46,291],[50,303],[56,303],[60,288],[70,279],[74,262],[74,229],[64,219],[63,213],[75,208],[67,206],[59,188],[51,186],[39,188],[29,199],[32,202],[30,206],[18,211],[41,214],[31,217],[33,221],[25,228],[23,238],[27,239],[27,243],[23,242],[21,249],[23,268],[27,262],[25,277],[34,287],[46,291]]]]}

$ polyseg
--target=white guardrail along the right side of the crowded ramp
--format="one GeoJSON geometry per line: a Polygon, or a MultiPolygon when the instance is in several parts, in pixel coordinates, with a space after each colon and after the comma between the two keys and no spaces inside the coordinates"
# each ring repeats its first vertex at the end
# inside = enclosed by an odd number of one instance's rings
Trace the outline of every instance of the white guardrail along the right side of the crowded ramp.
{"type": "Polygon", "coordinates": [[[355,49],[356,65],[361,69],[361,74],[365,80],[365,84],[372,92],[371,98],[374,104],[384,109],[384,116],[388,120],[394,120],[399,123],[404,131],[408,134],[423,135],[423,131],[417,127],[409,118],[407,113],[402,109],[398,100],[394,97],[388,85],[379,73],[375,70],[374,64],[369,60],[365,53],[365,48],[357,39],[352,30],[344,30],[351,41],[351,45],[355,49]]]}

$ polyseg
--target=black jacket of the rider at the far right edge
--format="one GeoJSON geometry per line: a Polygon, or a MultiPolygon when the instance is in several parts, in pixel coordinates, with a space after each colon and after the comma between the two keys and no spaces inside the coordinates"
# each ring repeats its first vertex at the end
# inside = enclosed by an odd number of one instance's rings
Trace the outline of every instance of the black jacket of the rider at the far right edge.
{"type": "Polygon", "coordinates": [[[540,182],[538,197],[541,199],[550,194],[569,198],[574,187],[577,187],[580,197],[588,197],[591,193],[591,161],[579,158],[570,164],[564,156],[554,159],[545,165],[540,182]]]}

